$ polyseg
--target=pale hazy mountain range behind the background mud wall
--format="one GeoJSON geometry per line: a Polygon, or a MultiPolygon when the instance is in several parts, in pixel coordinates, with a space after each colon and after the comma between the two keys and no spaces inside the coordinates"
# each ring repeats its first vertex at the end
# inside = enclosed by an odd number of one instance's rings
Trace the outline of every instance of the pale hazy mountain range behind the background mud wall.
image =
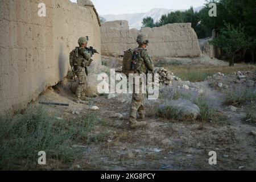
{"type": "MultiPolygon", "coordinates": [[[[197,7],[194,10],[198,12],[201,9],[203,9],[203,7],[204,6],[197,7]]],[[[147,13],[119,14],[119,15],[109,14],[109,15],[101,15],[101,16],[108,22],[114,21],[114,20],[127,20],[129,22],[130,28],[137,28],[138,30],[140,30],[142,27],[143,18],[147,18],[148,16],[150,16],[156,22],[157,20],[160,20],[162,15],[168,14],[174,11],[177,11],[177,10],[152,9],[147,13]]],[[[180,11],[185,11],[185,10],[180,10],[180,11]]]]}

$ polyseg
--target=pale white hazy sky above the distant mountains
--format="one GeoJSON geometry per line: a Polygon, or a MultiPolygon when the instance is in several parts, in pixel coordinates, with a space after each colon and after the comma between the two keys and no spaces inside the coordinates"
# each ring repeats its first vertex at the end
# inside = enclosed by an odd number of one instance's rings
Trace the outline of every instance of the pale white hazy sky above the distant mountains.
{"type": "MultiPolygon", "coordinates": [[[[71,0],[76,2],[76,0],[71,0]]],[[[154,8],[189,9],[203,6],[205,0],[91,0],[100,15],[146,13],[154,8]]]]}

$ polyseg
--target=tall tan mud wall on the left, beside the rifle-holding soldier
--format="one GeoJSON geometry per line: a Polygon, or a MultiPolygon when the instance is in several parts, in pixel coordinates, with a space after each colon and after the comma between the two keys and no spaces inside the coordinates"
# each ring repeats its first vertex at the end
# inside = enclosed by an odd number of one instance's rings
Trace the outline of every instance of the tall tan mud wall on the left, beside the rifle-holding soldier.
{"type": "MultiPolygon", "coordinates": [[[[101,49],[100,23],[90,1],[2,0],[0,3],[0,118],[24,109],[69,69],[69,52],[80,36],[101,49]],[[39,3],[46,17],[38,16],[39,3]]],[[[93,68],[101,65],[94,56],[93,68]]]]}

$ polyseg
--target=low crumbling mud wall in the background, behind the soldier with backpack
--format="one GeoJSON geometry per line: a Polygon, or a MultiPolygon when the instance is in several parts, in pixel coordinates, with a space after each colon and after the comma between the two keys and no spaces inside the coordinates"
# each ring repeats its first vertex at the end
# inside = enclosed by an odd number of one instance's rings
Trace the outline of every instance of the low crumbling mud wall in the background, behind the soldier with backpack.
{"type": "Polygon", "coordinates": [[[162,27],[129,30],[125,20],[105,22],[101,26],[102,55],[119,56],[123,51],[137,47],[138,34],[146,34],[147,47],[152,56],[197,57],[201,55],[196,32],[191,23],[174,23],[162,27]],[[123,23],[121,23],[123,22],[123,23]]]}

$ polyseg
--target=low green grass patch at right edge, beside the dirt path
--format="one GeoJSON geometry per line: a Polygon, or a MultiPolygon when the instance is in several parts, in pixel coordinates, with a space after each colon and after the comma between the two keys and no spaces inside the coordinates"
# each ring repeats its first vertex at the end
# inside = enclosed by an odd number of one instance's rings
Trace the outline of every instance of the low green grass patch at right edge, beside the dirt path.
{"type": "Polygon", "coordinates": [[[233,90],[226,94],[225,105],[241,105],[247,101],[255,101],[256,93],[250,89],[233,90]]]}

